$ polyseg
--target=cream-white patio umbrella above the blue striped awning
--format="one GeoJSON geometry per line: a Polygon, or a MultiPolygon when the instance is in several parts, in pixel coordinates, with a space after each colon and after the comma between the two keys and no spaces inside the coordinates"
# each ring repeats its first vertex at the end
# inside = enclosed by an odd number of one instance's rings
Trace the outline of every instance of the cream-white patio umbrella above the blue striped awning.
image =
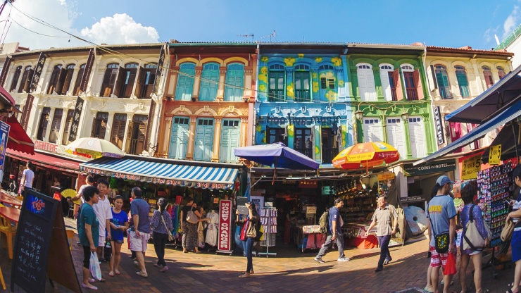
{"type": "Polygon", "coordinates": [[[82,137],[76,139],[74,142],[65,146],[65,151],[69,154],[78,156],[86,156],[87,158],[99,158],[101,156],[108,156],[111,158],[121,158],[125,156],[118,146],[94,137],[82,137]]]}

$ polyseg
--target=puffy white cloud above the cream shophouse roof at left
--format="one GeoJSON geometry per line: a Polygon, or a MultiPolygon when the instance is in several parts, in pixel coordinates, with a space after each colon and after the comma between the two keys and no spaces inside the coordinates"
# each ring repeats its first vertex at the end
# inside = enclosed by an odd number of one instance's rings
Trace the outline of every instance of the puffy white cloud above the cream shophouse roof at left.
{"type": "Polygon", "coordinates": [[[85,27],[81,35],[96,44],[137,44],[158,42],[154,27],[145,27],[126,13],[101,18],[91,28],[85,27]]]}

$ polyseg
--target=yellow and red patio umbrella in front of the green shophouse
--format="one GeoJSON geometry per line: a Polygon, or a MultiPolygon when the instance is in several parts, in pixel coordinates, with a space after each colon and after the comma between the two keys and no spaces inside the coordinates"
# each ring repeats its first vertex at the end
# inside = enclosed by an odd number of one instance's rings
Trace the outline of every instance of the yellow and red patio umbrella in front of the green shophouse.
{"type": "Polygon", "coordinates": [[[333,159],[333,166],[341,169],[379,166],[398,161],[398,150],[385,142],[365,142],[344,149],[333,159]]]}

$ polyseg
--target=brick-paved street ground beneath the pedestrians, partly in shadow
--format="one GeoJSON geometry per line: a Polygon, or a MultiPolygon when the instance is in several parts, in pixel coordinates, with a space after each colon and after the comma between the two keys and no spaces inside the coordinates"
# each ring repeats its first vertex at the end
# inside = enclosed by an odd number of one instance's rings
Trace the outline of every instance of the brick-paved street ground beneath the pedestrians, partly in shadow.
{"type": "MultiPolygon", "coordinates": [[[[66,219],[68,228],[75,227],[73,221],[66,219]]],[[[76,236],[77,238],[77,236],[76,236]]],[[[96,282],[97,292],[396,292],[413,287],[425,287],[425,275],[429,260],[425,257],[427,241],[422,240],[404,247],[391,248],[393,261],[380,273],[374,269],[379,257],[378,249],[349,249],[346,256],[351,261],[337,262],[337,251],[324,257],[326,263],[313,261],[314,252],[301,254],[294,247],[277,247],[277,257],[253,258],[255,275],[249,279],[237,278],[246,268],[242,256],[222,254],[183,254],[180,250],[167,249],[167,273],[159,273],[153,267],[156,256],[153,245],[149,244],[146,268],[149,278],[135,275],[130,251],[122,249],[122,275],[108,276],[108,264],[101,269],[107,282],[96,282]]],[[[73,245],[73,258],[78,277],[81,279],[82,249],[73,245]]],[[[5,249],[0,249],[0,266],[9,287],[11,261],[5,249]]],[[[470,265],[469,273],[472,270],[470,265]]],[[[496,280],[491,277],[491,268],[484,270],[483,285],[490,292],[505,292],[506,284],[513,279],[513,268],[500,271],[496,280]]],[[[458,278],[458,275],[456,275],[458,278]]],[[[467,284],[471,284],[467,277],[467,284]]],[[[459,291],[459,282],[451,286],[459,291]]],[[[87,292],[86,290],[84,292],[87,292]]],[[[48,283],[47,292],[67,292],[60,287],[52,289],[48,283]]]]}

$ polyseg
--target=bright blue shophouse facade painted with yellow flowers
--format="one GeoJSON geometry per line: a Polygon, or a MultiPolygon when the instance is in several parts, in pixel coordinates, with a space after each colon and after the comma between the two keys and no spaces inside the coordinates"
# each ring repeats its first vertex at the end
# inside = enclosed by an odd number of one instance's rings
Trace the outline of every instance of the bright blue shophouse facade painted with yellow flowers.
{"type": "Polygon", "coordinates": [[[254,144],[284,142],[321,165],[353,144],[347,44],[261,43],[254,144]]]}

